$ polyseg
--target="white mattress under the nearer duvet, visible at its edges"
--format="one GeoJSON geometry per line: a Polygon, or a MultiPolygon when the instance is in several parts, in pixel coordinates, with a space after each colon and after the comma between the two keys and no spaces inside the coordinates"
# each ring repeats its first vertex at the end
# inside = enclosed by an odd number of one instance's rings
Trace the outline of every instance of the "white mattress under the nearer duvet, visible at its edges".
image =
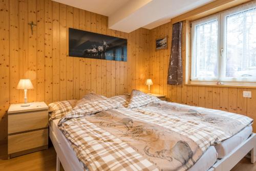
{"type": "MultiPolygon", "coordinates": [[[[50,126],[51,126],[50,130],[53,131],[59,143],[61,143],[61,146],[65,146],[65,148],[62,148],[62,151],[65,151],[64,153],[67,155],[67,158],[69,159],[69,162],[74,168],[74,170],[76,171],[83,170],[83,164],[79,162],[70,143],[68,142],[66,137],[62,134],[62,132],[58,129],[58,126],[57,126],[58,121],[59,119],[55,119],[50,122],[50,126]]],[[[195,163],[195,165],[193,165],[188,170],[189,171],[208,170],[217,161],[217,157],[218,157],[218,153],[215,147],[210,146],[207,149],[207,151],[202,155],[202,157],[195,163]]]]}

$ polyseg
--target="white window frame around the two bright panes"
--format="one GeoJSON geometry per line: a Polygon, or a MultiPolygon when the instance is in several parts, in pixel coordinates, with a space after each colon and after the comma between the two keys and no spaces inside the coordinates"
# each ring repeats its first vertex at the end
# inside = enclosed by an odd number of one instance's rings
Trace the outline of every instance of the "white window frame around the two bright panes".
{"type": "Polygon", "coordinates": [[[251,2],[247,4],[240,5],[238,7],[233,7],[225,11],[213,14],[201,19],[194,20],[190,22],[190,73],[189,73],[189,83],[190,84],[216,84],[216,82],[222,82],[225,85],[230,86],[255,86],[256,77],[225,77],[225,65],[226,65],[226,47],[225,47],[225,27],[226,27],[226,17],[232,14],[241,13],[250,9],[256,8],[256,2],[251,2]],[[213,18],[218,19],[218,74],[217,79],[198,79],[195,76],[195,63],[193,60],[193,48],[195,45],[195,29],[197,25],[211,22],[213,18]]]}

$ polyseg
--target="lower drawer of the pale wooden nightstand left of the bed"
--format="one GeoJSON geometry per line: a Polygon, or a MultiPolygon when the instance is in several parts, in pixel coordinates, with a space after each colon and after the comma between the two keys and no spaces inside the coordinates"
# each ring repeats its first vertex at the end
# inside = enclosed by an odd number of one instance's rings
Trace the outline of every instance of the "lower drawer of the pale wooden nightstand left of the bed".
{"type": "Polygon", "coordinates": [[[8,136],[8,154],[48,144],[48,129],[8,136]]]}

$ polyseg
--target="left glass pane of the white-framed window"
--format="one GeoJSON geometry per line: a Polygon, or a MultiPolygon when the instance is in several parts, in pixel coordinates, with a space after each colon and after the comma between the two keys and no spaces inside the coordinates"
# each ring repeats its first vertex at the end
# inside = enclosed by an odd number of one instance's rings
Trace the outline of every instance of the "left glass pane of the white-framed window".
{"type": "Polygon", "coordinates": [[[194,77],[212,79],[218,76],[218,20],[197,25],[193,49],[194,77]]]}

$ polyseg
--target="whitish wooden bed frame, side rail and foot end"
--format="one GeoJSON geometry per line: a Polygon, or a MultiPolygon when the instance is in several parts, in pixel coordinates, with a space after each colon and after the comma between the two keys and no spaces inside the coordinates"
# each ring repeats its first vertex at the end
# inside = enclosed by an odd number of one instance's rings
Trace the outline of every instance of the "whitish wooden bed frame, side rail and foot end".
{"type": "MultiPolygon", "coordinates": [[[[58,139],[56,138],[56,135],[52,131],[52,128],[50,126],[50,138],[52,140],[53,146],[55,148],[55,151],[57,153],[57,160],[56,160],[56,171],[59,171],[60,162],[65,169],[65,171],[82,171],[83,168],[78,168],[77,166],[74,166],[71,164],[71,160],[76,160],[78,163],[78,159],[71,159],[66,154],[66,151],[64,152],[62,149],[67,149],[67,144],[60,143],[58,139]]],[[[241,143],[238,147],[234,148],[233,151],[224,157],[221,160],[217,160],[217,162],[210,168],[208,171],[228,171],[231,168],[233,168],[242,158],[244,158],[249,152],[251,163],[255,163],[256,161],[256,134],[252,133],[249,138],[247,138],[243,143],[241,143]]],[[[80,163],[78,164],[80,165],[80,163]]],[[[81,165],[80,165],[81,166],[81,165]]]]}

